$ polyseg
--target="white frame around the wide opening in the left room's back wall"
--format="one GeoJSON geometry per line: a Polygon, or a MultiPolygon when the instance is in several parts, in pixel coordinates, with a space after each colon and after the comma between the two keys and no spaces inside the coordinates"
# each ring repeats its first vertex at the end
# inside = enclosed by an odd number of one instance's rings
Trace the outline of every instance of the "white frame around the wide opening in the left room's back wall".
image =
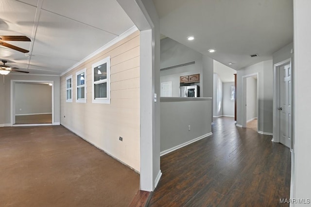
{"type": "Polygon", "coordinates": [[[50,126],[54,124],[54,81],[53,80],[11,80],[11,127],[24,127],[24,126],[50,126]],[[52,83],[52,123],[51,124],[15,124],[15,83],[16,82],[36,82],[36,83],[52,83]]]}

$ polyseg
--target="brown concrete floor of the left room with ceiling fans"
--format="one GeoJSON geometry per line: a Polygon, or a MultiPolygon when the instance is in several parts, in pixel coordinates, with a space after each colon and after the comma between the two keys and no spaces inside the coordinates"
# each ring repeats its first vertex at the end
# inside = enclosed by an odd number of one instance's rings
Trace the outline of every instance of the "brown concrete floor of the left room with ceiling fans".
{"type": "Polygon", "coordinates": [[[139,175],[62,126],[0,127],[0,206],[128,206],[139,175]]]}

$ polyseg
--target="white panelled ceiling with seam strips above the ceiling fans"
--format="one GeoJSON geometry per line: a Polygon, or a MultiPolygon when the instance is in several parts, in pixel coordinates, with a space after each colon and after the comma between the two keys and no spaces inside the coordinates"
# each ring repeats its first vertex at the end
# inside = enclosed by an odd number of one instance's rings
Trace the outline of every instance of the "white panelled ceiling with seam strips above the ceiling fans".
{"type": "Polygon", "coordinates": [[[32,42],[8,41],[30,52],[0,46],[0,59],[30,74],[59,75],[133,26],[116,0],[1,0],[0,35],[32,42]]]}

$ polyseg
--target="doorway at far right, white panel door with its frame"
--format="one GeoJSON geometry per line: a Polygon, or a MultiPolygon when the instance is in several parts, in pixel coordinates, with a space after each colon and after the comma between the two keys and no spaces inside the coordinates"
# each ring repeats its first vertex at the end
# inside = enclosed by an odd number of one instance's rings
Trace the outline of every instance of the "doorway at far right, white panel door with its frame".
{"type": "Polygon", "coordinates": [[[292,148],[292,61],[274,66],[273,141],[292,148]]]}

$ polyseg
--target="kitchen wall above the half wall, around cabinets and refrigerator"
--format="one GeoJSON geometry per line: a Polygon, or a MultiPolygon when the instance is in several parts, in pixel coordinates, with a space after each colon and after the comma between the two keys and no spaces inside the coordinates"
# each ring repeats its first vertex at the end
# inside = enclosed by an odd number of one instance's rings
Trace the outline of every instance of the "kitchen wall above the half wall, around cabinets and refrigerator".
{"type": "Polygon", "coordinates": [[[200,96],[202,96],[202,54],[170,38],[161,40],[160,49],[160,68],[185,64],[193,61],[195,62],[195,64],[176,67],[160,72],[161,82],[172,81],[173,97],[179,97],[180,76],[192,74],[200,74],[200,96]]]}

